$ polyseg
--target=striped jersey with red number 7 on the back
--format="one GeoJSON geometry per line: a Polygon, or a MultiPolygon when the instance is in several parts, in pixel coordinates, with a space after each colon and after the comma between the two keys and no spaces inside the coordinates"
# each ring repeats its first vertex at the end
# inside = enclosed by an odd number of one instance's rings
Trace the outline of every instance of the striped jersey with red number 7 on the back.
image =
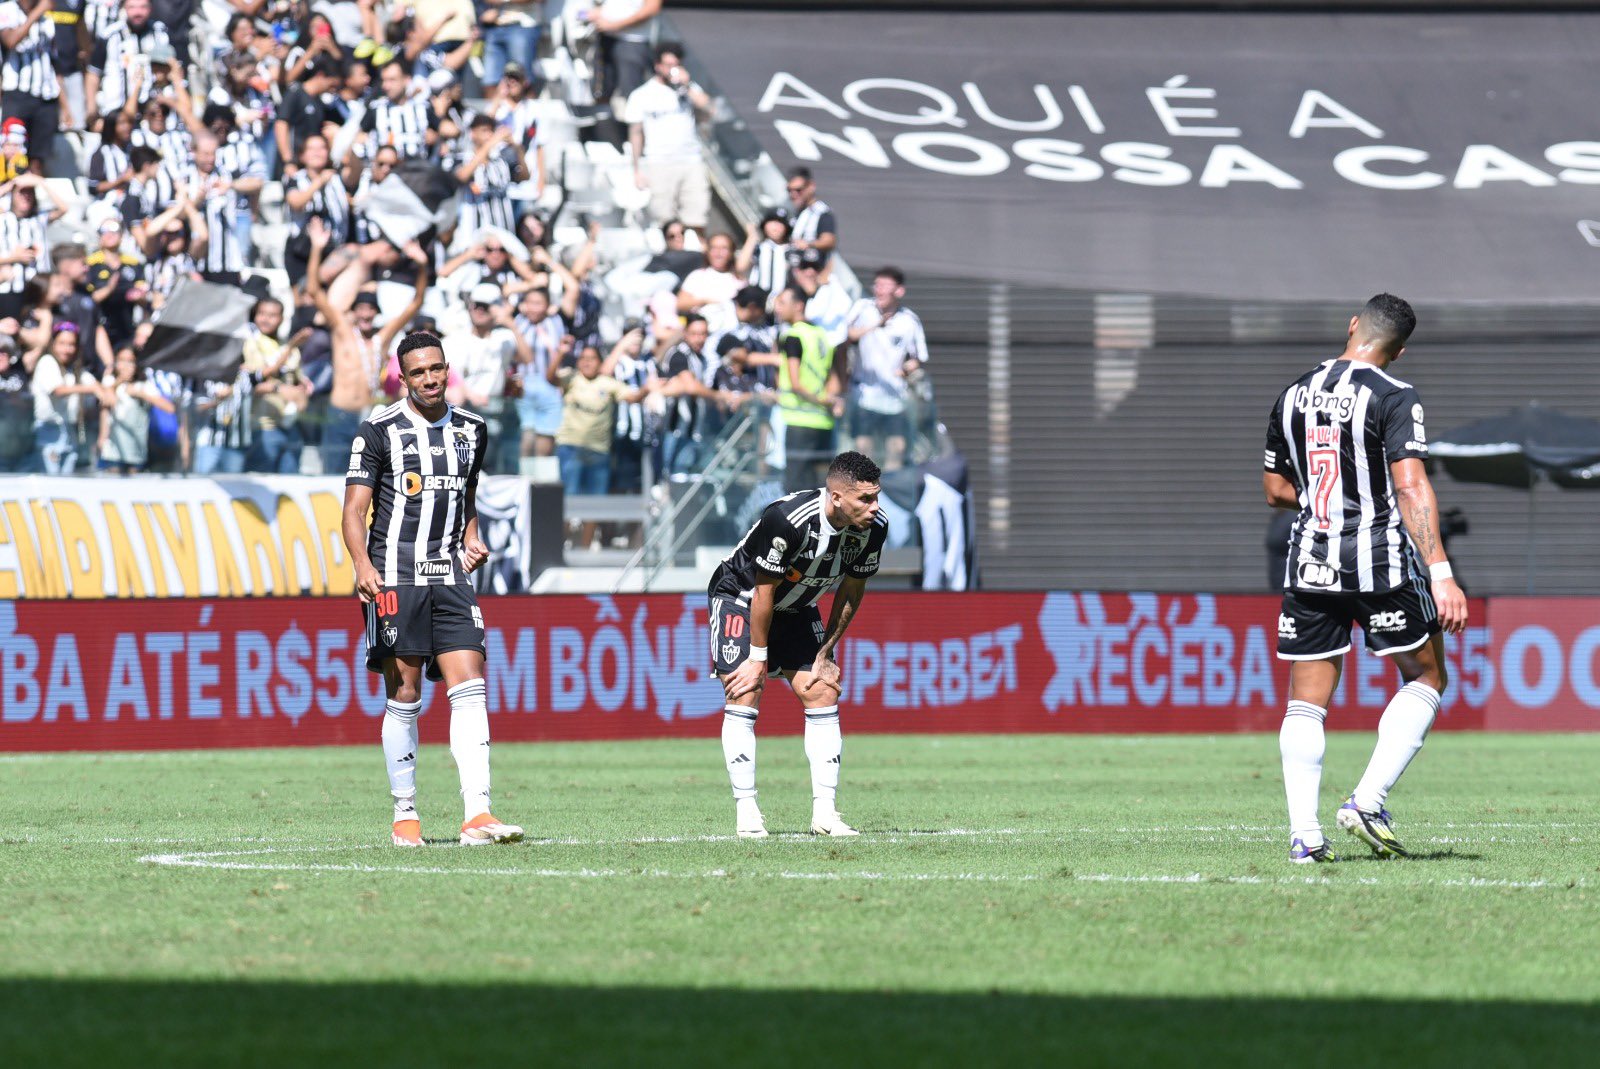
{"type": "Polygon", "coordinates": [[[1266,469],[1299,491],[1285,589],[1387,592],[1419,575],[1389,466],[1427,458],[1416,389],[1371,363],[1326,360],[1278,395],[1266,469]]]}

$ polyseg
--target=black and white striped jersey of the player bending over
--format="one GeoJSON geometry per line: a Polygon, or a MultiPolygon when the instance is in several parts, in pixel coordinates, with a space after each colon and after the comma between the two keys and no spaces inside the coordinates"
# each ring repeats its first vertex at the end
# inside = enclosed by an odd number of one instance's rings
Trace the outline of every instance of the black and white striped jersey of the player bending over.
{"type": "Polygon", "coordinates": [[[872,526],[834,528],[827,522],[827,488],[802,490],[766,506],[726,560],[717,565],[707,592],[749,603],[760,576],[781,576],[774,608],[794,613],[816,605],[840,579],[870,579],[890,534],[882,512],[872,526]]]}

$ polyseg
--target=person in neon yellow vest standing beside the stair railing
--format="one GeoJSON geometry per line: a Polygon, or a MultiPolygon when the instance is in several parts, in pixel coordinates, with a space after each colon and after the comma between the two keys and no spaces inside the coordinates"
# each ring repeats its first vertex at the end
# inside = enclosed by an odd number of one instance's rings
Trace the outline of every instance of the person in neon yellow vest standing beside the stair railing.
{"type": "Polygon", "coordinates": [[[789,286],[773,302],[778,314],[778,405],[784,424],[784,490],[819,486],[834,458],[834,419],[843,413],[834,347],[806,322],[806,294],[789,286]]]}

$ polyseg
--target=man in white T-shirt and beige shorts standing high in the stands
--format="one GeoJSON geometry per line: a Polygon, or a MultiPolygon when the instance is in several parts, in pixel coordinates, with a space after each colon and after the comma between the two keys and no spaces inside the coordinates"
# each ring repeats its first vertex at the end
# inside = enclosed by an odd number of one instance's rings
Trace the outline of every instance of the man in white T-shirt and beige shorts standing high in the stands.
{"type": "Polygon", "coordinates": [[[710,182],[701,158],[696,115],[710,114],[710,98],[683,69],[683,46],[656,46],[656,77],[627,98],[624,120],[634,149],[634,181],[650,190],[650,218],[682,219],[706,230],[710,182]]]}

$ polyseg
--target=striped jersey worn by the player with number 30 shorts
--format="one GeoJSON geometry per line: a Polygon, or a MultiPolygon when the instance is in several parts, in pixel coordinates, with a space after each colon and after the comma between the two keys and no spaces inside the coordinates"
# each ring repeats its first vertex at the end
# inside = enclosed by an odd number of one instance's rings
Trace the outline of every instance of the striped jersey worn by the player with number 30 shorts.
{"type": "Polygon", "coordinates": [[[427,422],[400,400],[362,424],[344,483],[373,488],[366,555],[384,586],[469,583],[461,547],[488,440],[483,418],[454,405],[427,422]]]}

